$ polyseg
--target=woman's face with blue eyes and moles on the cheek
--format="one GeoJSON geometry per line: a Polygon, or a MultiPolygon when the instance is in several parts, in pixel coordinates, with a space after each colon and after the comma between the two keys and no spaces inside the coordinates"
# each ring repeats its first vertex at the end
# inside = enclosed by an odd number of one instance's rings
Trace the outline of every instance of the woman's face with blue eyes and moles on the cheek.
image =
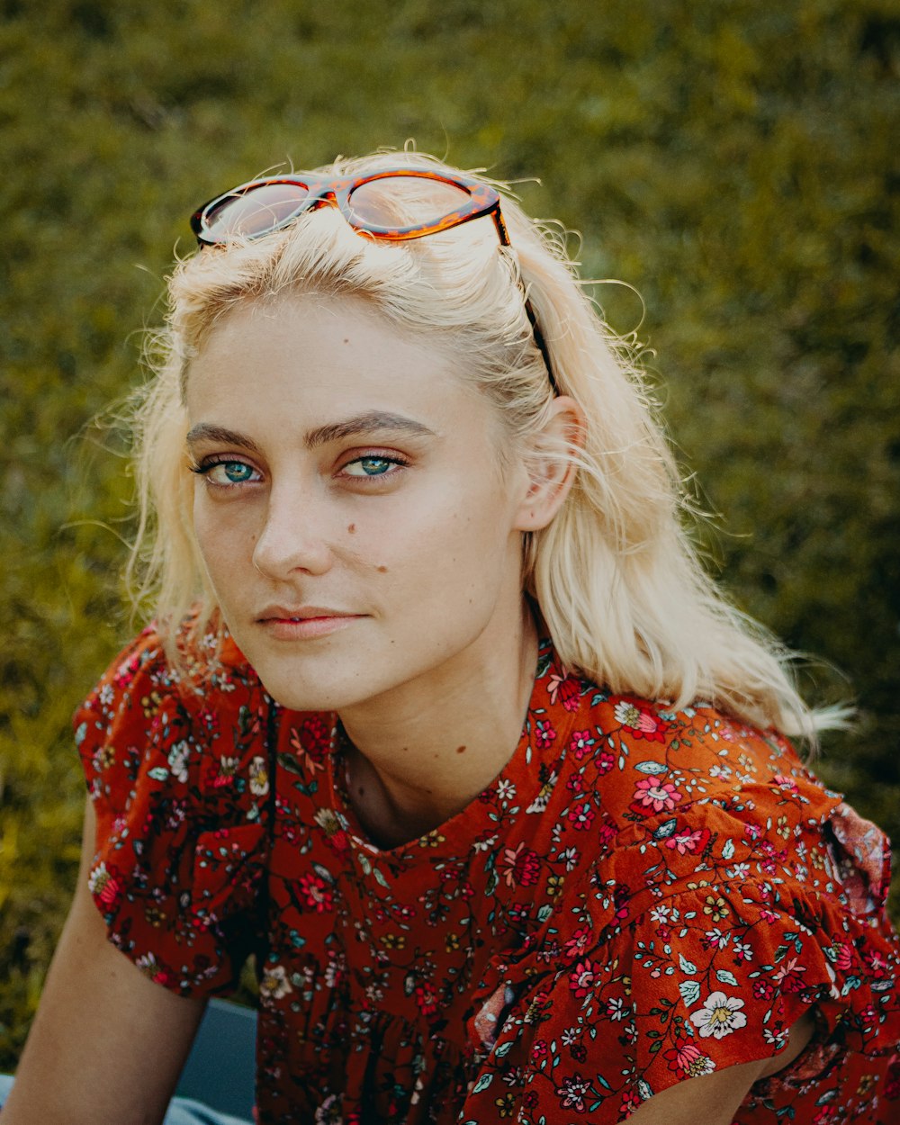
{"type": "Polygon", "coordinates": [[[353,298],[245,303],[191,362],[187,406],[200,551],[280,703],[446,687],[511,637],[528,475],[424,338],[353,298]]]}

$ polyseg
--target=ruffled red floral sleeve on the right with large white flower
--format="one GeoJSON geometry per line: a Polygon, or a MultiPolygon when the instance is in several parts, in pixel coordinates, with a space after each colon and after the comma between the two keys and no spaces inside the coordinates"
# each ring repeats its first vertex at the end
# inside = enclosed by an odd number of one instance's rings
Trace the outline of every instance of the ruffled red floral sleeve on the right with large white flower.
{"type": "Polygon", "coordinates": [[[495,966],[462,1122],[612,1125],[676,1082],[774,1056],[813,1007],[832,1045],[894,1048],[886,840],[842,803],[810,818],[778,782],[781,819],[762,826],[699,806],[650,843],[626,829],[552,932],[495,966]]]}

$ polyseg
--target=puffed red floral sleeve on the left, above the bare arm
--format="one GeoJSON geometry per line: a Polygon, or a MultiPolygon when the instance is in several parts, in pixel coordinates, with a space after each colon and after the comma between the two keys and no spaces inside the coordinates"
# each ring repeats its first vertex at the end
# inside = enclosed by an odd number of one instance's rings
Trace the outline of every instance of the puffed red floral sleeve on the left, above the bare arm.
{"type": "Polygon", "coordinates": [[[91,894],[112,944],[181,996],[230,989],[261,925],[271,721],[246,665],[219,663],[198,693],[152,627],[75,712],[91,894]]]}

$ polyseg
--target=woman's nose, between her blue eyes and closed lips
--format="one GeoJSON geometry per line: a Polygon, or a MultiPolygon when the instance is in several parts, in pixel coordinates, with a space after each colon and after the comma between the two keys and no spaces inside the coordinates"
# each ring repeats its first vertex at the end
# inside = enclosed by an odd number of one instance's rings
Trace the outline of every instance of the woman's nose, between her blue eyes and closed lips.
{"type": "Polygon", "coordinates": [[[325,513],[308,493],[273,488],[253,546],[253,566],[278,582],[297,572],[324,574],[333,560],[325,520],[325,513]]]}

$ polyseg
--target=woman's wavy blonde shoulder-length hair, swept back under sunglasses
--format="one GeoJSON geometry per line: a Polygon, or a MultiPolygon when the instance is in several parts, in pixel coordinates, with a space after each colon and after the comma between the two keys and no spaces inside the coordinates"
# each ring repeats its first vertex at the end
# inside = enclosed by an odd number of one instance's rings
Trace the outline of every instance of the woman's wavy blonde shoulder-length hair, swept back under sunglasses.
{"type": "MultiPolygon", "coordinates": [[[[414,152],[339,160],[322,171],[397,165],[456,171],[414,152]]],[[[674,706],[705,699],[757,726],[813,738],[827,723],[798,694],[790,654],[703,570],[690,538],[691,505],[641,377],[579,288],[562,237],[507,195],[503,215],[512,242],[503,251],[486,218],[386,244],[323,207],[264,237],[178,263],[166,327],[154,338],[155,379],[135,416],[140,525],[129,565],[171,659],[184,659],[176,626],[189,613],[195,640],[218,621],[192,528],[183,406],[190,359],[216,323],[243,302],[279,295],[363,298],[464,357],[461,377],[496,403],[511,448],[526,448],[554,397],[526,294],[558,393],[586,417],[583,449],[559,454],[576,462],[575,486],[550,525],[524,542],[524,588],[559,658],[616,693],[674,706]]]]}

